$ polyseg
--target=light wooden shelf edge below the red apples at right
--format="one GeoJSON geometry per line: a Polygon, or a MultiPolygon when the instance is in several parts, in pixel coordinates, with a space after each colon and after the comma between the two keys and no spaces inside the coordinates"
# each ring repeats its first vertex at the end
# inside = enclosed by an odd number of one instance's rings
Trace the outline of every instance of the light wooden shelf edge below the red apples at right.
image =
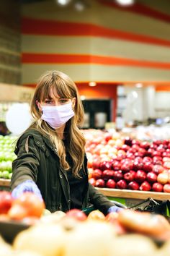
{"type": "Polygon", "coordinates": [[[138,190],[128,190],[128,189],[107,189],[107,188],[97,188],[99,192],[107,197],[120,197],[120,198],[130,198],[143,200],[148,197],[152,197],[155,200],[169,200],[170,193],[164,192],[146,192],[138,190]]]}

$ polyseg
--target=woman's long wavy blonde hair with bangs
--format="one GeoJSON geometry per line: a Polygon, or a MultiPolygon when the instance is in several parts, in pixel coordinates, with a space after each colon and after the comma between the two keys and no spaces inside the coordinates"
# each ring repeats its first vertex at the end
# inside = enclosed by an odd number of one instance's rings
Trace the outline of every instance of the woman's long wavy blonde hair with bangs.
{"type": "Polygon", "coordinates": [[[31,102],[31,114],[35,121],[31,127],[38,129],[42,135],[49,137],[53,142],[55,148],[57,148],[58,156],[61,161],[61,167],[65,170],[70,168],[66,161],[66,149],[63,141],[58,137],[54,129],[41,119],[42,113],[39,111],[36,102],[44,101],[45,98],[49,98],[50,90],[57,92],[61,98],[76,98],[76,104],[74,106],[74,116],[68,120],[64,130],[66,138],[66,145],[69,154],[71,155],[73,166],[72,171],[74,176],[79,176],[79,170],[84,163],[85,153],[85,138],[79,129],[79,125],[84,121],[84,108],[81,103],[79,92],[75,83],[68,75],[59,71],[48,71],[40,77],[35,88],[35,94],[31,102]]]}

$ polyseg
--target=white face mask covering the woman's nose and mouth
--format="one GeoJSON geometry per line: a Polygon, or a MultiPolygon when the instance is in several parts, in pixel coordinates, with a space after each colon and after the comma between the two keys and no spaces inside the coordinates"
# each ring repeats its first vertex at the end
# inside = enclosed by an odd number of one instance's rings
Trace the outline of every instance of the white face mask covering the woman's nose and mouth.
{"type": "Polygon", "coordinates": [[[53,129],[61,127],[74,116],[72,103],[61,106],[42,106],[41,119],[46,121],[53,129]]]}

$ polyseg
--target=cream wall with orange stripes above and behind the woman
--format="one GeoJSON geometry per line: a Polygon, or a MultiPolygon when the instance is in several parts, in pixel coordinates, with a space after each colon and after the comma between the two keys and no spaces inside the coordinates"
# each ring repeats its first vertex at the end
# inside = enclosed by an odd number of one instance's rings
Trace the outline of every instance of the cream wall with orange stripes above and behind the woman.
{"type": "Polygon", "coordinates": [[[83,12],[55,1],[23,5],[22,85],[35,86],[43,72],[58,69],[71,76],[81,95],[111,97],[115,108],[112,85],[170,88],[169,0],[126,8],[109,0],[89,3],[83,12]],[[90,81],[97,87],[89,88],[90,81]]]}

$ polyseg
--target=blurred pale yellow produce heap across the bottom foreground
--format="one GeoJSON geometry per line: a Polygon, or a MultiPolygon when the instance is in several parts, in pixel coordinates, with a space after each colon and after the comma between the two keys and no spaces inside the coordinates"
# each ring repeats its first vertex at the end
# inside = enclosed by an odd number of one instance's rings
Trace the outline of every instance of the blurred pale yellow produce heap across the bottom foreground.
{"type": "Polygon", "coordinates": [[[169,255],[170,224],[163,216],[122,210],[103,218],[94,210],[95,214],[91,212],[91,215],[96,218],[86,216],[80,220],[80,212],[68,211],[58,220],[54,216],[59,211],[43,216],[39,223],[19,232],[12,245],[1,239],[0,247],[4,252],[8,250],[8,255],[23,256],[169,255]]]}

